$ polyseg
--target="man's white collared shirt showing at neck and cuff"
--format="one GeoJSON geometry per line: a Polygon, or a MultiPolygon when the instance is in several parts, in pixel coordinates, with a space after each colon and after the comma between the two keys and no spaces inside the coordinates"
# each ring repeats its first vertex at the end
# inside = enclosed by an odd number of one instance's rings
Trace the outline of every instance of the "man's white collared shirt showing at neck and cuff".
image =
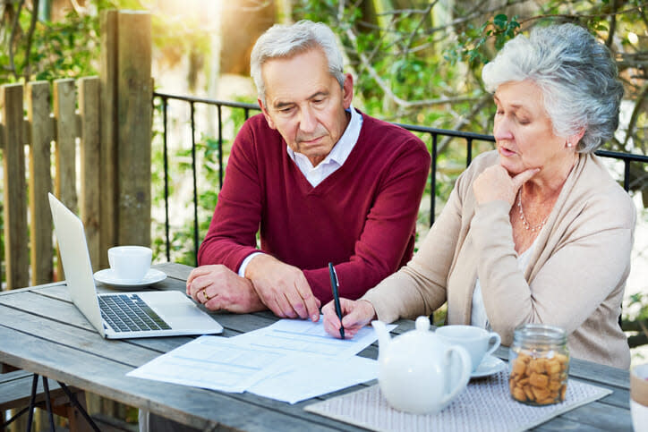
{"type": "MultiPolygon", "coordinates": [[[[313,188],[320,184],[320,182],[323,182],[330,174],[335,173],[337,168],[345,164],[346,158],[349,157],[355,147],[355,143],[358,141],[360,130],[362,129],[362,115],[355,111],[353,105],[349,106],[347,111],[351,113],[351,120],[346,125],[345,132],[340,137],[340,140],[337,141],[336,145],[333,146],[327,157],[317,166],[313,166],[309,158],[302,153],[295,153],[292,148],[286,146],[288,156],[293,159],[294,164],[297,165],[313,188]]],[[[245,268],[248,267],[252,258],[260,253],[263,252],[253,252],[245,257],[241,263],[241,267],[238,268],[238,275],[245,277],[245,268]]]]}

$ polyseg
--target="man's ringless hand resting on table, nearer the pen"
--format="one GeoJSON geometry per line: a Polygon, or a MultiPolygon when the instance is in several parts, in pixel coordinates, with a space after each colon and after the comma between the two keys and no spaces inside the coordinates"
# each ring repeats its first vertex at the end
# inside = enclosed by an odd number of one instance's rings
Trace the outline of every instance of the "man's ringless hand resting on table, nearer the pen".
{"type": "Polygon", "coordinates": [[[297,267],[260,254],[245,268],[260,300],[280,318],[320,319],[320,301],[312,295],[306,276],[297,267]]]}

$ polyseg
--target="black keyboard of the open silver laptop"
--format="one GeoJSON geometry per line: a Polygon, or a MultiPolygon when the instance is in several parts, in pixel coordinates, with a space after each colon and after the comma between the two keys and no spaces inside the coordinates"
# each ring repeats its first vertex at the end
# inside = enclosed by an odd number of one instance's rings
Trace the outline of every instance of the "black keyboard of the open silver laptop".
{"type": "Polygon", "coordinates": [[[148,332],[171,328],[137,294],[103,295],[98,299],[101,317],[115,332],[148,332]]]}

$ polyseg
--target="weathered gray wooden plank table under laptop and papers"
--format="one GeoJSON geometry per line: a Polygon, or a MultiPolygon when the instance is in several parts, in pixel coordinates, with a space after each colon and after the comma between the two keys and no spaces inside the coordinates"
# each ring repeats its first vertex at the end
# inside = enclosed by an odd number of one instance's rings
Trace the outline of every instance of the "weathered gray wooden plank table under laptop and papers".
{"type": "MultiPolygon", "coordinates": [[[[169,277],[156,288],[184,290],[191,267],[156,266],[169,277]]],[[[100,291],[107,288],[98,286],[100,291]]],[[[224,336],[268,326],[276,321],[268,312],[251,315],[216,314],[224,336]]],[[[395,333],[413,328],[401,321],[395,333]]],[[[0,362],[80,387],[95,394],[158,413],[195,428],[217,430],[364,430],[303,411],[318,399],[353,391],[351,387],[290,405],[254,394],[226,394],[183,385],[143,381],[126,373],[168,352],[189,337],[164,337],[109,341],[101,338],[76,309],[64,284],[40,285],[0,293],[0,362]]],[[[362,356],[376,358],[371,345],[362,356]]],[[[498,355],[507,357],[500,348],[498,355]]],[[[572,360],[570,376],[613,393],[551,419],[536,430],[632,430],[627,370],[583,360],[572,360]]]]}

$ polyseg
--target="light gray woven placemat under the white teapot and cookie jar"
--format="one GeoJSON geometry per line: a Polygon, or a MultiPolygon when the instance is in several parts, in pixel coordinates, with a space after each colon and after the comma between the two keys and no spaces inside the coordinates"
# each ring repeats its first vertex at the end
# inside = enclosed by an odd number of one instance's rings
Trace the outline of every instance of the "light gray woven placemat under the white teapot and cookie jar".
{"type": "Polygon", "coordinates": [[[435,415],[396,411],[380,394],[379,385],[313,403],[304,409],[362,428],[379,431],[504,431],[524,430],[596,401],[612,391],[569,379],[565,401],[529,406],[514,401],[508,391],[508,372],[472,381],[455,401],[435,415]]]}

